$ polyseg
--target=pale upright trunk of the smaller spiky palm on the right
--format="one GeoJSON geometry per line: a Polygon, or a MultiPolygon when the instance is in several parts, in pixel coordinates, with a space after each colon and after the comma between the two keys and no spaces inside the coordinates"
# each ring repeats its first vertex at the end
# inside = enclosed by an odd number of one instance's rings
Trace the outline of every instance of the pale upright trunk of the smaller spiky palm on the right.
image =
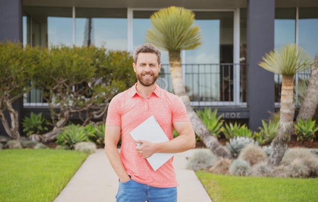
{"type": "Polygon", "coordinates": [[[293,104],[294,75],[282,75],[280,120],[277,136],[273,141],[272,152],[268,159],[269,165],[279,165],[287,148],[287,141],[293,132],[295,108],[293,104]]]}

